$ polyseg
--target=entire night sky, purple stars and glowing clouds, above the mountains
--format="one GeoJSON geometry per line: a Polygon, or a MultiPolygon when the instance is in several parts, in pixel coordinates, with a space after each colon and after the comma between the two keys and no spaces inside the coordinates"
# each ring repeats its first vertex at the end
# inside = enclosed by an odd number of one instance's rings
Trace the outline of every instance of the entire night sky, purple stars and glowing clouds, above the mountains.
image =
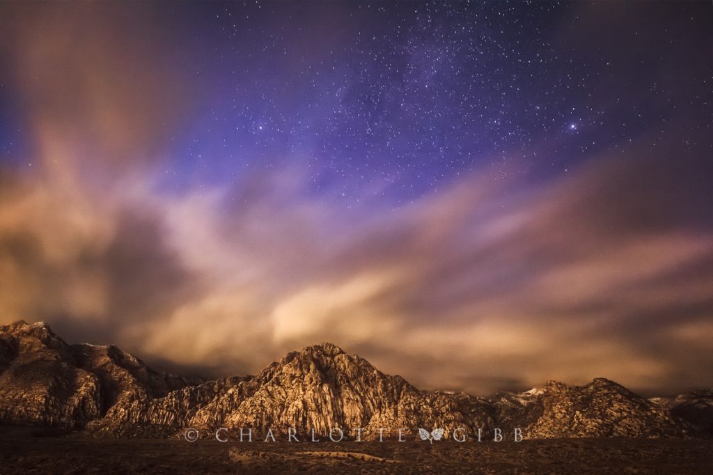
{"type": "Polygon", "coordinates": [[[709,2],[0,5],[0,321],[165,369],[713,384],[709,2]]]}

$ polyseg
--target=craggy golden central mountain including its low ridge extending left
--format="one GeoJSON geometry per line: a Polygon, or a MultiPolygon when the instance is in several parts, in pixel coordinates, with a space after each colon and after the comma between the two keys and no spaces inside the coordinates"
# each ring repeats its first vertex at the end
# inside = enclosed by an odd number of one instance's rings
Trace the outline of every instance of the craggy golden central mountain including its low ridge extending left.
{"type": "MultiPolygon", "coordinates": [[[[398,434],[399,428],[492,428],[492,407],[467,394],[421,392],[399,376],[379,372],[365,359],[333,344],[287,354],[251,378],[220,379],[172,392],[160,399],[135,394],[88,426],[90,434],[168,435],[194,427],[208,434],[220,427],[251,427],[256,434],[294,428],[327,436],[330,429],[363,429],[363,438],[398,434]],[[143,430],[143,429],[142,429],[143,430]]],[[[355,434],[355,433],[354,433],[355,434]]]]}

